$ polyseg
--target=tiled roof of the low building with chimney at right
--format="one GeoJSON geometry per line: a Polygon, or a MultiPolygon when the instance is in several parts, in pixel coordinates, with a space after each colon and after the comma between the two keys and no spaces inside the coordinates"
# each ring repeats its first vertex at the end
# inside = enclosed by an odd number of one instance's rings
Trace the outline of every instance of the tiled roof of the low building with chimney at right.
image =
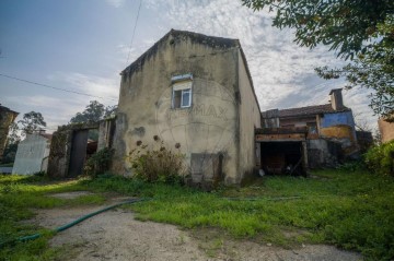
{"type": "Polygon", "coordinates": [[[290,109],[280,109],[277,111],[277,114],[264,111],[263,118],[288,118],[288,117],[300,117],[300,116],[310,116],[310,115],[320,115],[320,114],[333,114],[333,112],[340,112],[340,111],[347,111],[350,110],[349,108],[344,108],[341,110],[335,110],[333,109],[331,104],[324,104],[324,105],[313,105],[313,106],[306,106],[306,107],[299,107],[299,108],[290,108],[290,109]]]}

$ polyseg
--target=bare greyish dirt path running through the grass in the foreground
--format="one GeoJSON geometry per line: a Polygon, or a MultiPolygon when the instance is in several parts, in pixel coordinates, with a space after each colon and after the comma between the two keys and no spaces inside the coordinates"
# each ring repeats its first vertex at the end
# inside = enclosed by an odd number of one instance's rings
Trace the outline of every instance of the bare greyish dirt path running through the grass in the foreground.
{"type": "MultiPolygon", "coordinates": [[[[69,197],[69,195],[67,195],[69,197]]],[[[124,200],[124,199],[121,199],[124,200]]],[[[112,203],[121,201],[115,199],[112,203]]],[[[32,221],[55,228],[103,206],[38,210],[32,221]]],[[[62,260],[361,260],[359,254],[329,246],[286,250],[251,241],[195,237],[176,226],[139,222],[121,209],[86,220],[56,235],[51,246],[68,246],[62,260]]]]}

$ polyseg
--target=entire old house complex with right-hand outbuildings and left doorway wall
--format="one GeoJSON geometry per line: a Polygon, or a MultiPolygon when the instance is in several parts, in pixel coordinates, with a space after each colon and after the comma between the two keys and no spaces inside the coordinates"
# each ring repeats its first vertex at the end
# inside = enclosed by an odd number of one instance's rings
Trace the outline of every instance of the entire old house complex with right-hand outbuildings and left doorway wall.
{"type": "Polygon", "coordinates": [[[50,176],[82,173],[89,129],[99,129],[99,150],[114,149],[113,173],[132,175],[130,153],[164,146],[185,155],[187,181],[201,186],[302,174],[359,151],[340,88],[329,104],[262,112],[237,39],[172,29],[120,76],[115,119],[54,133],[50,176]]]}

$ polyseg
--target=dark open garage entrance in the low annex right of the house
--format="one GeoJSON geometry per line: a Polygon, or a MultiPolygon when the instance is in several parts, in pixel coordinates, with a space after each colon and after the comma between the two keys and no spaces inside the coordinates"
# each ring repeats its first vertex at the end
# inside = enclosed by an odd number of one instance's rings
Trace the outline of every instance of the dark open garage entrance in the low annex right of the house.
{"type": "Polygon", "coordinates": [[[299,141],[262,142],[262,168],[266,174],[303,175],[303,149],[299,141]]]}

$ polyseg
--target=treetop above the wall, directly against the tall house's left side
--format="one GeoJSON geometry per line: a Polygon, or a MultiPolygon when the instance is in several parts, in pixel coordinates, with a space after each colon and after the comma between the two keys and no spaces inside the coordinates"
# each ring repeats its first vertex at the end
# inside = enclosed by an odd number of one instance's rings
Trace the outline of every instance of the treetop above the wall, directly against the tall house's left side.
{"type": "Polygon", "coordinates": [[[77,115],[71,118],[70,123],[97,122],[115,114],[116,108],[116,106],[105,107],[97,100],[91,100],[82,112],[77,112],[77,115]]]}

